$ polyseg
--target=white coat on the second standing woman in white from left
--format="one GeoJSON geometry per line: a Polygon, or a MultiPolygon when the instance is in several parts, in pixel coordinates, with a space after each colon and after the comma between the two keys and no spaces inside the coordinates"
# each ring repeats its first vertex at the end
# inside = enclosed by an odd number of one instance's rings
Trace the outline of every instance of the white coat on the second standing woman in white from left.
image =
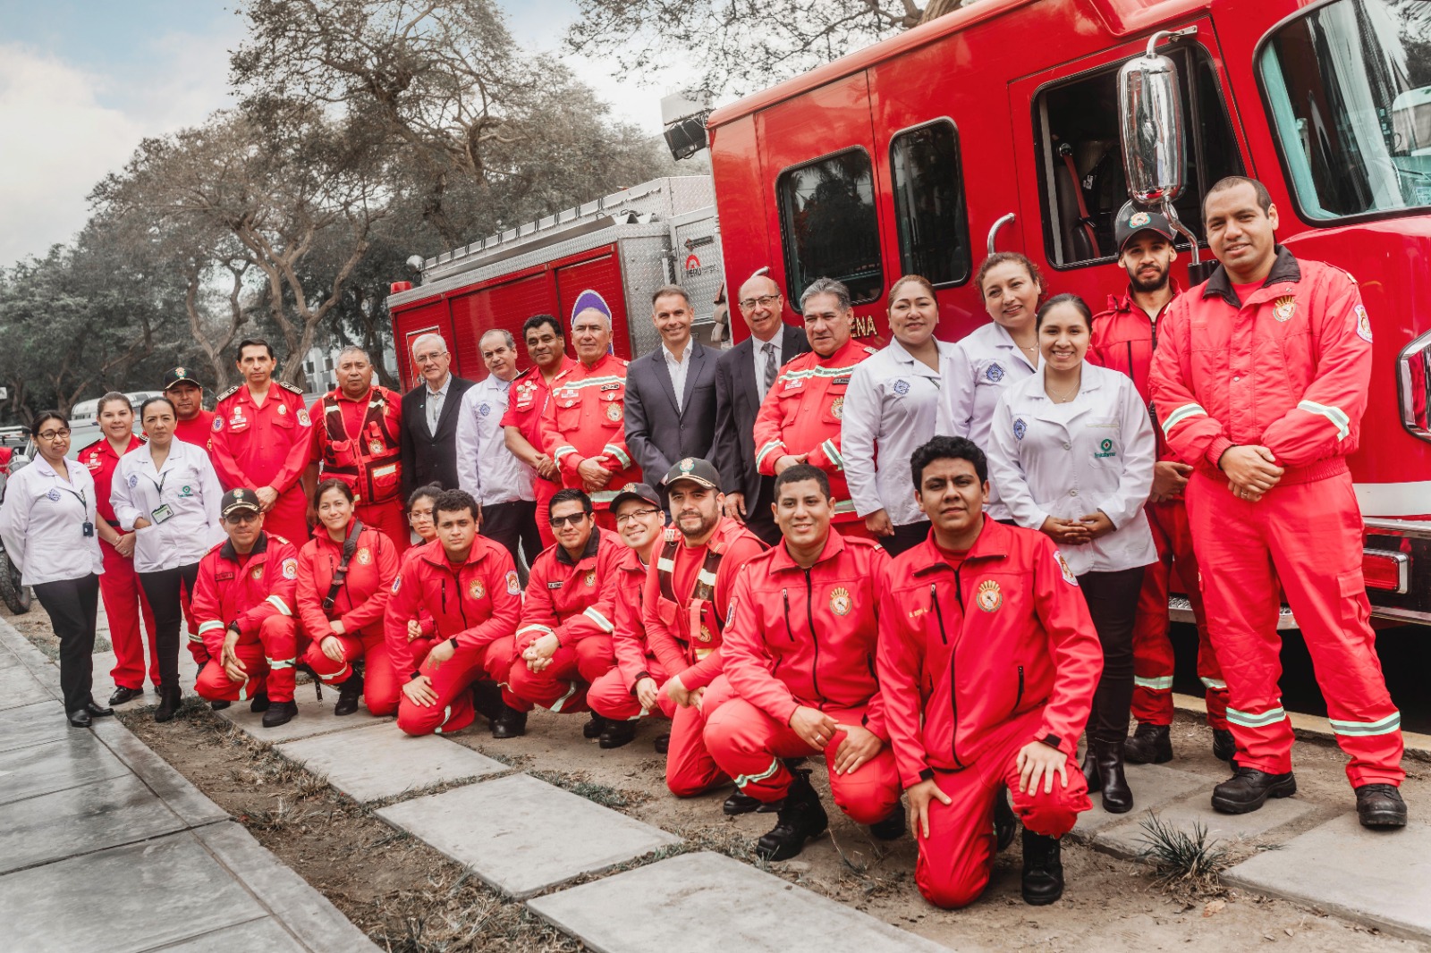
{"type": "Polygon", "coordinates": [[[202,446],[173,441],[165,465],[155,469],[153,448],[140,446],[119,458],[109,501],[119,528],[132,532],[135,521],[150,522],[135,532],[135,572],[162,572],[193,565],[225,539],[219,502],[223,487],[202,446]],[[169,518],[155,519],[155,509],[169,507],[169,518]]]}

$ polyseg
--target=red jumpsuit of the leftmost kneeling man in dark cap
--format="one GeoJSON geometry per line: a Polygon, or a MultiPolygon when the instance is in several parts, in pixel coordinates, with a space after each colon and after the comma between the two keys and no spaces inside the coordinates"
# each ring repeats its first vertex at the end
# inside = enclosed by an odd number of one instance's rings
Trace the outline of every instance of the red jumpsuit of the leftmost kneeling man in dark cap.
{"type": "Polygon", "coordinates": [[[260,532],[248,555],[232,542],[220,542],[199,561],[193,587],[193,617],[209,664],[195,690],[209,701],[242,701],[266,691],[269,701],[293,700],[293,665],[298,664],[298,620],[293,617],[298,587],[298,549],[260,532]],[[235,654],[248,671],[233,681],[223,670],[223,640],[239,632],[235,654]]]}

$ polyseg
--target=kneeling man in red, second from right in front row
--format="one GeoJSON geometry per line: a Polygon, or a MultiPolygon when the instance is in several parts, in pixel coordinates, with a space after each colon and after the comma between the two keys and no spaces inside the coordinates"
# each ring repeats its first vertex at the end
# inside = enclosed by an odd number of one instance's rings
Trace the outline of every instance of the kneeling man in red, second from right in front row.
{"type": "MultiPolygon", "coordinates": [[[[830,479],[810,464],[776,478],[774,514],[784,539],[747,562],[731,592],[723,680],[734,697],[707,715],[705,747],[743,794],[783,801],[774,830],[756,841],[761,857],[794,857],[824,833],[810,773],[781,761],[821,753],[840,810],[893,840],[904,814],[874,680],[879,584],[890,558],[830,527],[830,479]]],[[[724,694],[720,683],[710,694],[724,694]]]]}

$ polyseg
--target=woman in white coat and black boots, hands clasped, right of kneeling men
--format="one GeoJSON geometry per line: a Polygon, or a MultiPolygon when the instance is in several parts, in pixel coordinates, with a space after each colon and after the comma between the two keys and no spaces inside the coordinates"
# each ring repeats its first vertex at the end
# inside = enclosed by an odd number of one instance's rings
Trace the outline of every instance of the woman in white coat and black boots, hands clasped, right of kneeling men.
{"type": "Polygon", "coordinates": [[[1020,527],[1059,545],[1078,578],[1103,645],[1103,674],[1089,715],[1083,774],[1103,791],[1103,810],[1123,813],[1133,796],[1123,740],[1133,698],[1133,612],[1143,567],[1158,558],[1143,504],[1158,444],[1133,382],[1086,363],[1092,313],[1078,295],[1039,308],[1043,366],[1009,388],[995,412],[989,476],[1020,527]]]}

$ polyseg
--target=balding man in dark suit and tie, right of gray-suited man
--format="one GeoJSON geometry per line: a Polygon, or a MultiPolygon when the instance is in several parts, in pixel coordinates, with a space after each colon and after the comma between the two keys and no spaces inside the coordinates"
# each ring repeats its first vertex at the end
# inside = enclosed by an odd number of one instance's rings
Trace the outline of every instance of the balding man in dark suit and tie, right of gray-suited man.
{"type": "Polygon", "coordinates": [[[726,484],[726,515],[740,519],[767,545],[780,542],[770,505],[774,476],[756,469],[756,415],[780,368],[810,349],[803,328],[781,321],[786,298],[761,269],[740,286],[740,313],[750,336],[716,362],[716,448],[711,462],[726,484]]]}

